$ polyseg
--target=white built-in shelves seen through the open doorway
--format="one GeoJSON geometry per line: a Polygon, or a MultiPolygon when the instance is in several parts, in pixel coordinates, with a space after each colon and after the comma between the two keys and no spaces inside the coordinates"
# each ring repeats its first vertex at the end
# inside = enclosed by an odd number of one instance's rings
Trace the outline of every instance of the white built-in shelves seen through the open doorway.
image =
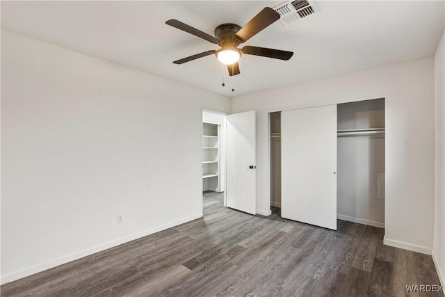
{"type": "Polygon", "coordinates": [[[204,191],[219,191],[219,125],[202,123],[202,179],[204,191]]]}

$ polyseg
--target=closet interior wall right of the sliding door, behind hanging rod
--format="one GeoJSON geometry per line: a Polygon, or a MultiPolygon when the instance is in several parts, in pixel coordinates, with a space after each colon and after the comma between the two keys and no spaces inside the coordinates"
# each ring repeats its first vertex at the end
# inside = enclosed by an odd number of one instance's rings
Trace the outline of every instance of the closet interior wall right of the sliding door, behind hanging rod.
{"type": "MultiPolygon", "coordinates": [[[[337,105],[337,129],[385,127],[385,99],[337,105]]],[[[385,200],[378,199],[378,173],[385,173],[385,135],[337,138],[337,216],[385,226],[385,200]]]]}

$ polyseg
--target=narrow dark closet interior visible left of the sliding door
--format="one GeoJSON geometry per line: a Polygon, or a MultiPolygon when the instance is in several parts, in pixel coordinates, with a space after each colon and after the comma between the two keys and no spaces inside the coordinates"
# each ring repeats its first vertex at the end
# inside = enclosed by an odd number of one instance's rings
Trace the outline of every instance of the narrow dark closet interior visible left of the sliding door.
{"type": "Polygon", "coordinates": [[[270,113],[270,205],[281,207],[281,112],[270,113]]]}

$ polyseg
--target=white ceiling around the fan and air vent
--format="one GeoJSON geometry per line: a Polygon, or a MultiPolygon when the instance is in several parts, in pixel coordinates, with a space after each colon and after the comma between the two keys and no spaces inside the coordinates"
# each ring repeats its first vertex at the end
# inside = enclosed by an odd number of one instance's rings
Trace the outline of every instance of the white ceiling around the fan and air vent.
{"type": "Polygon", "coordinates": [[[1,26],[227,97],[432,56],[444,31],[444,1],[316,1],[320,13],[275,22],[241,45],[293,51],[289,61],[243,55],[233,80],[215,56],[172,63],[219,47],[168,19],[213,35],[282,2],[1,1],[1,26]]]}

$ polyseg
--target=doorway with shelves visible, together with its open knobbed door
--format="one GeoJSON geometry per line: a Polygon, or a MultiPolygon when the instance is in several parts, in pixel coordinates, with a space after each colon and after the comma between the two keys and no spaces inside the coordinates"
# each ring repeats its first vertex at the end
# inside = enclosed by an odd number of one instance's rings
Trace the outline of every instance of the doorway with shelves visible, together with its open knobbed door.
{"type": "Polygon", "coordinates": [[[256,113],[202,112],[202,191],[223,206],[256,214],[256,113]]]}

